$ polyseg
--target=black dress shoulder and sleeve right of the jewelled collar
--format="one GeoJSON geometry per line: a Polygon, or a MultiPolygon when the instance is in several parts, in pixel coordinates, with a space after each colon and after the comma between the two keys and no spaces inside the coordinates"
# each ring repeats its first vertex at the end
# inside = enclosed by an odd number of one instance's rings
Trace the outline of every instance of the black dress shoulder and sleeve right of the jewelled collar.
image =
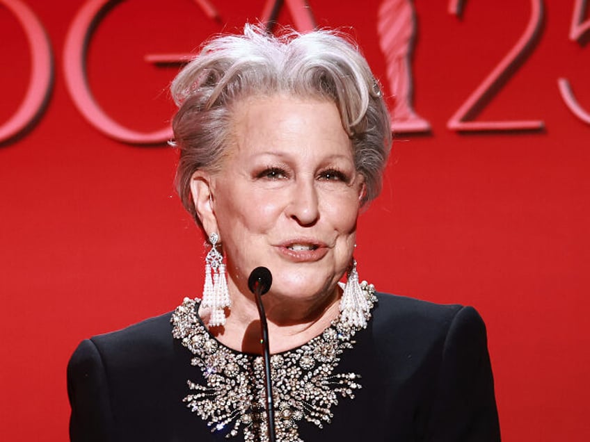
{"type": "Polygon", "coordinates": [[[376,296],[359,368],[371,400],[394,398],[399,414],[415,423],[417,439],[499,441],[479,313],[460,304],[376,296]]]}

